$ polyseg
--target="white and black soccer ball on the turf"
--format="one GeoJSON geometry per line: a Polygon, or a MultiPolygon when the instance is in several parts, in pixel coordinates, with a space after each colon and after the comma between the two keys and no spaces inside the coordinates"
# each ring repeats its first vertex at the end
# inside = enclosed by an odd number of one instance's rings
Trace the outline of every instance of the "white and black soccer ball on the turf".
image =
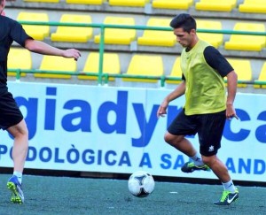
{"type": "Polygon", "coordinates": [[[137,171],[130,175],[129,192],[137,197],[146,197],[153,193],[155,182],[153,176],[145,171],[137,171]]]}

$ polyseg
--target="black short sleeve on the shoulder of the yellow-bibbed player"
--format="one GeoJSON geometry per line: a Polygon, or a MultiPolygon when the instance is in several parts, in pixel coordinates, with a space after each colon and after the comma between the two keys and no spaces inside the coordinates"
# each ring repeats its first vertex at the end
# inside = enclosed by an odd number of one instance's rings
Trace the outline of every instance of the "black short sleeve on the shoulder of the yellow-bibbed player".
{"type": "MultiPolygon", "coordinates": [[[[234,70],[226,58],[213,46],[207,46],[203,51],[203,55],[207,64],[214,68],[222,77],[234,70]]],[[[184,75],[182,79],[185,80],[184,75]]]]}

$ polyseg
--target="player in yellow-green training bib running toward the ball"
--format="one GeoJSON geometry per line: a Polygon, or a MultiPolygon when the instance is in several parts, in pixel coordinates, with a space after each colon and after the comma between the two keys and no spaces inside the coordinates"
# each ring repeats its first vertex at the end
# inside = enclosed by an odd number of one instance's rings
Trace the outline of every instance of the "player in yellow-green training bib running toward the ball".
{"type": "Polygon", "coordinates": [[[223,184],[223,195],[215,204],[228,205],[239,197],[226,165],[216,156],[221,147],[226,119],[238,116],[233,106],[238,76],[228,61],[207,42],[201,41],[196,32],[196,21],[182,13],[170,22],[176,41],[184,49],[181,53],[183,81],[160,104],[157,117],[167,113],[168,104],[185,96],[182,111],[168,127],[164,139],[168,144],[191,158],[182,167],[184,173],[209,168],[223,184]],[[223,77],[227,77],[227,96],[223,77]],[[198,134],[200,153],[185,135],[198,134]]]}

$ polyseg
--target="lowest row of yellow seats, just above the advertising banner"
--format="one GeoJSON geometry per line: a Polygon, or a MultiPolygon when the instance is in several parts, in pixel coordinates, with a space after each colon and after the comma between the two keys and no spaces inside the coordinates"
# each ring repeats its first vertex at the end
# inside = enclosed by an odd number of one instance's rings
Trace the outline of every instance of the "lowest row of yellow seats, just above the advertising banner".
{"type": "MultiPolygon", "coordinates": [[[[239,81],[253,81],[253,71],[250,60],[228,58],[231,65],[239,75],[239,81]]],[[[98,52],[90,52],[85,64],[80,73],[98,73],[98,52]]],[[[33,69],[32,56],[28,50],[20,48],[12,48],[9,54],[8,69],[33,69]]],[[[70,79],[70,74],[57,74],[56,72],[78,72],[77,62],[69,58],[43,56],[40,67],[40,71],[53,71],[55,73],[34,73],[36,78],[56,78],[56,79],[70,79]]],[[[129,65],[126,72],[121,71],[121,61],[118,53],[105,53],[103,73],[109,74],[121,74],[126,73],[129,75],[146,75],[146,76],[161,76],[165,75],[165,69],[163,60],[160,55],[145,55],[145,54],[132,54],[129,61],[129,65]]],[[[175,63],[169,73],[168,77],[181,78],[180,58],[176,58],[175,63]]],[[[9,76],[14,76],[15,73],[9,72],[9,76]]],[[[22,73],[21,76],[26,76],[26,73],[22,73]]],[[[97,80],[97,76],[89,76],[79,74],[78,79],[81,80],[97,80]]],[[[109,81],[113,81],[114,78],[110,77],[109,81]]],[[[148,81],[156,82],[156,80],[147,79],[132,79],[122,78],[123,81],[148,81]]],[[[266,63],[262,66],[258,81],[266,81],[266,63]]],[[[177,83],[178,81],[167,81],[168,83],[177,83]]],[[[245,88],[246,84],[239,83],[239,88],[245,88]]]]}

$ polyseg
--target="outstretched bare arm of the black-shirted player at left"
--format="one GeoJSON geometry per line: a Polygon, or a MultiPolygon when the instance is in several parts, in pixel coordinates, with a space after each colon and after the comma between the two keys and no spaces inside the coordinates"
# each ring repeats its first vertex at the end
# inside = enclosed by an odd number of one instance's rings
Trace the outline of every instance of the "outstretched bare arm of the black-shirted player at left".
{"type": "Polygon", "coordinates": [[[43,54],[43,55],[53,55],[53,56],[61,56],[64,58],[74,58],[75,60],[77,60],[78,58],[82,56],[79,50],[75,50],[75,49],[60,50],[45,42],[36,41],[32,39],[26,40],[25,48],[27,50],[33,51],[35,53],[43,54]]]}

